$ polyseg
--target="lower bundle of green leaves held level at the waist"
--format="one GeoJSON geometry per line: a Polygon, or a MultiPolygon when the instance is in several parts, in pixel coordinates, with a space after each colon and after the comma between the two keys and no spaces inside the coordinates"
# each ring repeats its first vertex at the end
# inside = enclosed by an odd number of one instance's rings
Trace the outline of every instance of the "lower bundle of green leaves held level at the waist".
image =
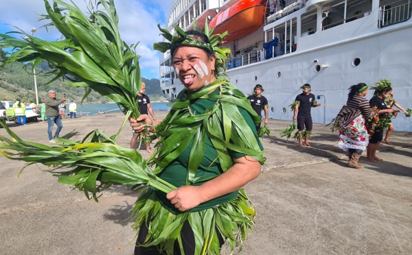
{"type": "Polygon", "coordinates": [[[27,162],[20,173],[30,165],[43,164],[58,182],[76,186],[88,199],[98,201],[98,194],[113,184],[144,184],[165,193],[176,189],[157,178],[137,151],[116,145],[100,130],[93,130],[82,141],[58,138],[61,146],[50,147],[23,141],[8,125],[0,125],[12,136],[12,140],[0,136],[0,154],[27,162]]]}

